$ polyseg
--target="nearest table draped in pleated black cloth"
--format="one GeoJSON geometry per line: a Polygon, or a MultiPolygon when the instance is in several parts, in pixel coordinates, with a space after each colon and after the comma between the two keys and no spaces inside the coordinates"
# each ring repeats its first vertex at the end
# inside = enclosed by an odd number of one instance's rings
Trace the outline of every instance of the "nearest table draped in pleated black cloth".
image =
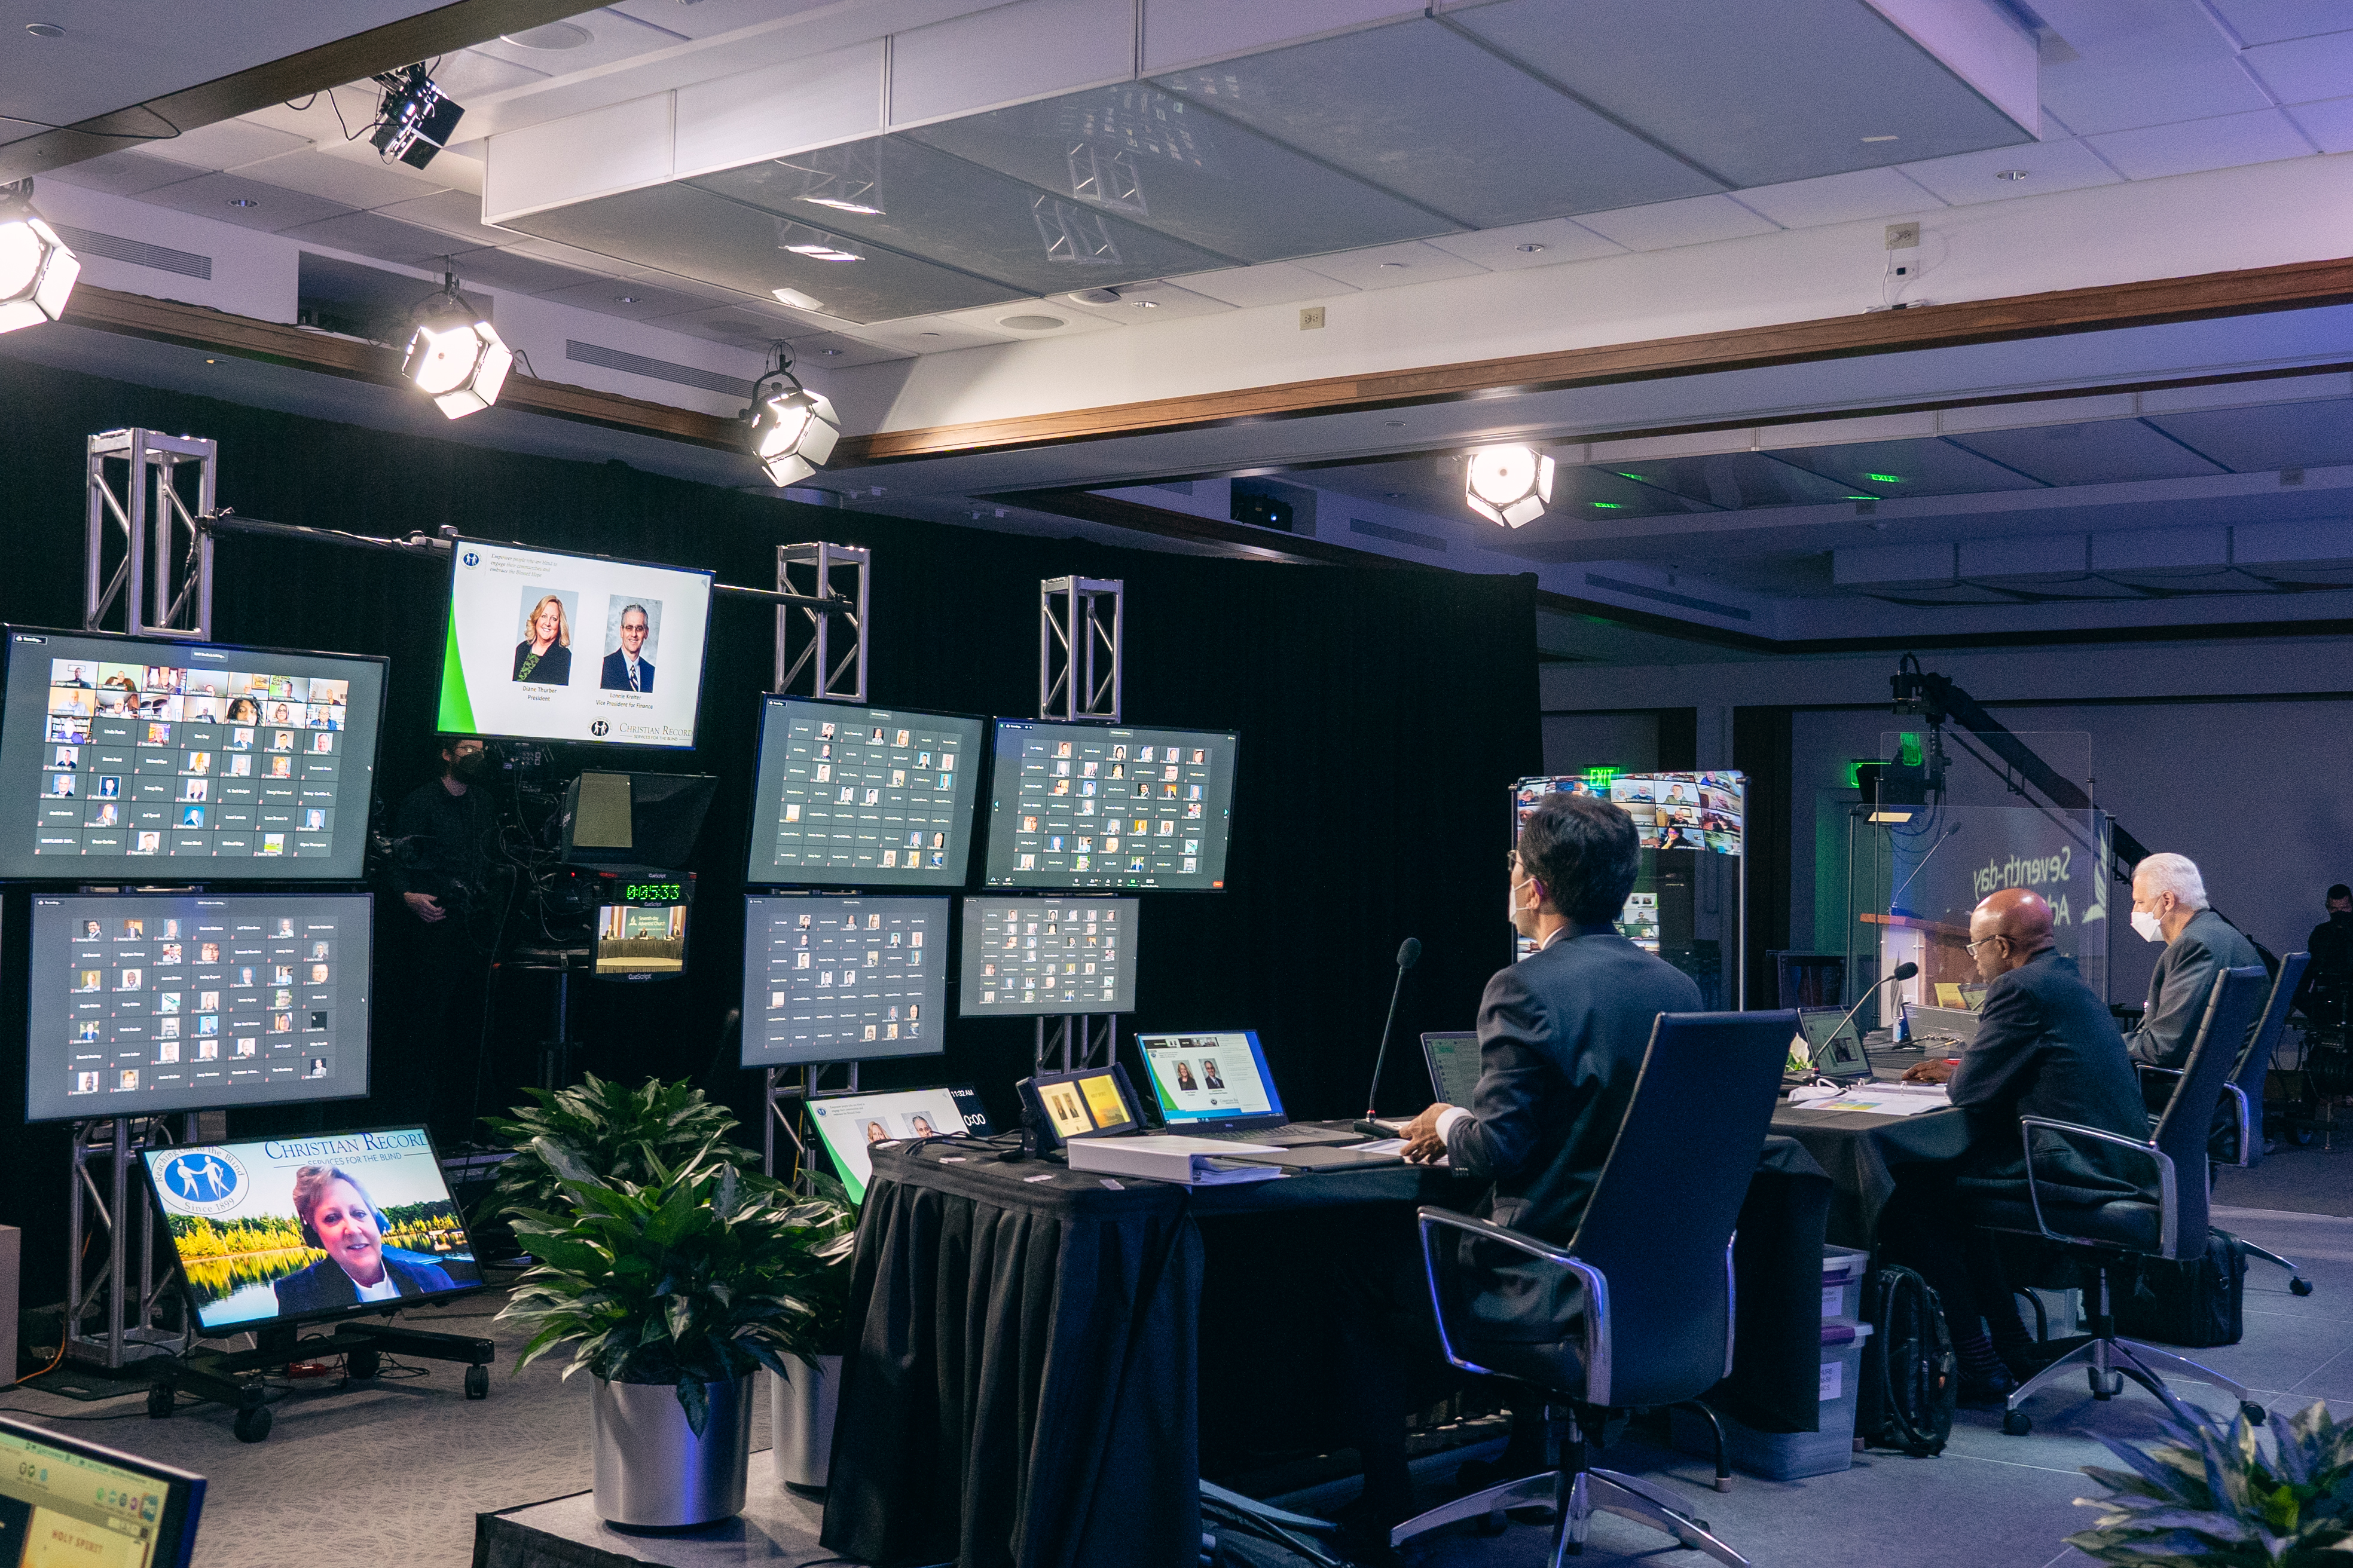
{"type": "MultiPolygon", "coordinates": [[[[1737,1371],[1708,1401],[1765,1429],[1814,1429],[1831,1187],[1800,1140],[1769,1138],[1741,1211],[1737,1371]]],[[[1179,1187],[875,1145],[824,1547],[885,1568],[1193,1568],[1205,1408],[1257,1399],[1240,1415],[1273,1439],[1339,1406],[1315,1276],[1334,1237],[1478,1192],[1428,1166],[1179,1187]]]]}

